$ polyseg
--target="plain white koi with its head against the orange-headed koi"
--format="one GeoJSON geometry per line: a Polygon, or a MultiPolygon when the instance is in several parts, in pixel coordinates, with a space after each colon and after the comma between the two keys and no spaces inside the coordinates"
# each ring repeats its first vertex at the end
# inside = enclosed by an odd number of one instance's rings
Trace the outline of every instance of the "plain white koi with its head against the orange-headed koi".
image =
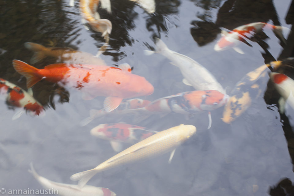
{"type": "MultiPolygon", "coordinates": [[[[205,67],[185,55],[171,51],[159,38],[155,38],[155,40],[155,52],[165,56],[172,61],[173,65],[179,67],[184,76],[183,83],[185,85],[193,86],[196,90],[217,90],[225,93],[220,83],[218,83],[215,77],[205,67]]],[[[146,55],[153,53],[154,51],[145,51],[146,55]]]]}

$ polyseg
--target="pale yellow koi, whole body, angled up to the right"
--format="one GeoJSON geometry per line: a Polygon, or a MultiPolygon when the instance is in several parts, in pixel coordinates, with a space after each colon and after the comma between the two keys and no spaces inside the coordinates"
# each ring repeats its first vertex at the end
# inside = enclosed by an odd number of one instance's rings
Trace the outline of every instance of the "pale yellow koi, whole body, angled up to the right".
{"type": "Polygon", "coordinates": [[[183,124],[160,131],[116,154],[96,168],[70,176],[70,179],[79,180],[78,185],[83,187],[98,172],[136,161],[143,161],[172,151],[168,161],[170,163],[176,147],[195,133],[195,126],[183,124]]]}

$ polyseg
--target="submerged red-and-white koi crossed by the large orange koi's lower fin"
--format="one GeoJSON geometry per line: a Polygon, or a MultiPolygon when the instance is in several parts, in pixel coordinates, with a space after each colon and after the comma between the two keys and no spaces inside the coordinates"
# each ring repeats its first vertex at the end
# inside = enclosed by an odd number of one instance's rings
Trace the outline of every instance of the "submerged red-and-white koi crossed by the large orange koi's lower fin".
{"type": "MultiPolygon", "coordinates": [[[[119,107],[117,107],[115,109],[115,111],[123,111],[123,110],[128,110],[128,109],[136,109],[136,108],[140,108],[140,107],[145,107],[150,102],[151,101],[138,99],[138,98],[126,100],[126,101],[122,102],[119,105],[119,107]]],[[[83,119],[80,122],[80,125],[85,126],[85,125],[89,124],[93,119],[95,119],[96,116],[100,117],[100,116],[106,115],[106,113],[107,112],[104,109],[101,109],[101,110],[91,109],[90,116],[88,118],[83,119]]]]}

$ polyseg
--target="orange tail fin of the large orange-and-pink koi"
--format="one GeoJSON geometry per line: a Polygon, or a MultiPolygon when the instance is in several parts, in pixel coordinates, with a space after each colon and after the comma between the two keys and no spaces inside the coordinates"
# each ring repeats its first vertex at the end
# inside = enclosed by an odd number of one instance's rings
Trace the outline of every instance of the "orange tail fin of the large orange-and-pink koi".
{"type": "Polygon", "coordinates": [[[42,77],[38,76],[37,72],[39,69],[30,66],[29,64],[22,62],[20,60],[12,61],[14,69],[21,75],[25,76],[27,79],[27,88],[31,88],[38,81],[42,80],[42,77]]]}

